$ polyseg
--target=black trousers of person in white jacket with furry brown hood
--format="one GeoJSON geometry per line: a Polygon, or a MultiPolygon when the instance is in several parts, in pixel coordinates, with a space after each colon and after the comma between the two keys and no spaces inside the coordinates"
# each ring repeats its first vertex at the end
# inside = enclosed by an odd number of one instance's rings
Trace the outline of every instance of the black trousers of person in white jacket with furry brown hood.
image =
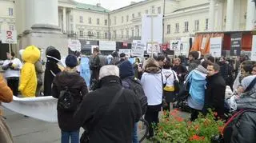
{"type": "Polygon", "coordinates": [[[145,114],[145,120],[150,125],[149,137],[154,137],[154,124],[158,125],[158,113],[161,110],[161,105],[148,105],[145,114]]]}

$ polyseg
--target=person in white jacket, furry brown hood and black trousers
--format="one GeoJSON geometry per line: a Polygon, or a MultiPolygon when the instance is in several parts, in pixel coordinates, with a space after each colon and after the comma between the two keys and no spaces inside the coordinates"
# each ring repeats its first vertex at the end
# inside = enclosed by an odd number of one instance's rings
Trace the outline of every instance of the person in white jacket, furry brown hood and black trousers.
{"type": "Polygon", "coordinates": [[[148,102],[145,119],[150,125],[148,138],[152,138],[154,137],[153,124],[158,124],[159,122],[158,113],[162,108],[162,90],[163,85],[166,84],[166,77],[154,58],[146,60],[144,70],[141,81],[148,102]]]}

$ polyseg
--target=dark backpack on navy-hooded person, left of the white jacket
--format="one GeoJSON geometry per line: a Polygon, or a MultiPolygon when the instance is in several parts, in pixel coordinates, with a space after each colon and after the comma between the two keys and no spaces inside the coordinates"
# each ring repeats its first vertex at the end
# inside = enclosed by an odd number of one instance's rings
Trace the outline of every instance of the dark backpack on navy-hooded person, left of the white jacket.
{"type": "Polygon", "coordinates": [[[146,109],[147,109],[147,97],[144,93],[142,84],[136,77],[132,77],[129,79],[130,80],[127,80],[127,82],[130,85],[130,89],[133,90],[134,93],[136,94],[136,97],[138,97],[138,100],[139,100],[141,108],[142,108],[142,115],[144,115],[146,113],[146,109]]]}

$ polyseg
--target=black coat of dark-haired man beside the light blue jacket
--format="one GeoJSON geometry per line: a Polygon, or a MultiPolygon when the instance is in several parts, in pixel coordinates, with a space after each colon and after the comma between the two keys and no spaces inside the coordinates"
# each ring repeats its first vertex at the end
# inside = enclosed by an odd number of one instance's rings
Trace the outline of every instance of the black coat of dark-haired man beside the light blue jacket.
{"type": "Polygon", "coordinates": [[[208,109],[214,109],[218,113],[218,117],[224,117],[224,99],[226,84],[220,73],[215,73],[213,76],[206,77],[206,93],[205,104],[202,113],[206,114],[208,109]]]}

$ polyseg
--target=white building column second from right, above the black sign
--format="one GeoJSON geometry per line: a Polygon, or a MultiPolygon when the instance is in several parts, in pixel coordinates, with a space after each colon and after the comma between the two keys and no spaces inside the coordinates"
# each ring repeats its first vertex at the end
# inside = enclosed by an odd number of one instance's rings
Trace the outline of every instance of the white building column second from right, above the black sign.
{"type": "Polygon", "coordinates": [[[234,0],[227,0],[226,31],[234,30],[234,0]]]}

